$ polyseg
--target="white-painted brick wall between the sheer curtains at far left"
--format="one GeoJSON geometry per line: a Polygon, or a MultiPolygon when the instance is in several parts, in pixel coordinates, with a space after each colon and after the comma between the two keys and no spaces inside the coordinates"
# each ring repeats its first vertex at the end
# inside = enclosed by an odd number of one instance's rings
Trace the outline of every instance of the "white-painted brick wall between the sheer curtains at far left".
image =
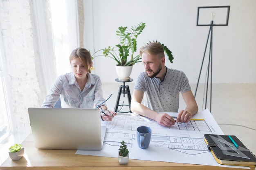
{"type": "Polygon", "coordinates": [[[0,28],[4,44],[9,106],[18,132],[30,132],[28,107],[42,103],[40,74],[36,73],[36,37],[33,29],[32,0],[2,0],[0,28]],[[32,15],[31,15],[32,14],[32,15]]]}

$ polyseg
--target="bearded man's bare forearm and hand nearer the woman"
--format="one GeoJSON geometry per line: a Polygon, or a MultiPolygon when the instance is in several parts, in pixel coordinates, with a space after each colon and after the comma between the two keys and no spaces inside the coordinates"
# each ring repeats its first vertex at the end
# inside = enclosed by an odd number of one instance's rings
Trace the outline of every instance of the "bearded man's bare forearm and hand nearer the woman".
{"type": "Polygon", "coordinates": [[[150,119],[153,119],[157,121],[162,126],[170,127],[171,125],[175,124],[175,120],[173,117],[166,113],[157,113],[148,107],[141,104],[143,99],[143,93],[141,91],[135,90],[132,94],[132,100],[131,100],[131,111],[134,113],[137,113],[139,115],[148,117],[150,119]]]}

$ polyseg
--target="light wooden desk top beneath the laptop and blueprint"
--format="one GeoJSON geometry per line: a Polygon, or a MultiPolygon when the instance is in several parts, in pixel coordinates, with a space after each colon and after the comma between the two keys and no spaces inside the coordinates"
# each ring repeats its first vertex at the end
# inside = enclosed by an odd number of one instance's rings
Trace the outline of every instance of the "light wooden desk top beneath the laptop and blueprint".
{"type": "MultiPolygon", "coordinates": [[[[75,154],[76,150],[36,149],[34,147],[32,135],[29,135],[22,144],[25,149],[24,157],[19,161],[12,161],[8,157],[0,166],[0,170],[242,170],[240,168],[225,168],[135,159],[130,159],[126,165],[119,165],[117,158],[77,155],[75,154]]],[[[254,168],[251,168],[251,170],[254,170],[254,168]]]]}

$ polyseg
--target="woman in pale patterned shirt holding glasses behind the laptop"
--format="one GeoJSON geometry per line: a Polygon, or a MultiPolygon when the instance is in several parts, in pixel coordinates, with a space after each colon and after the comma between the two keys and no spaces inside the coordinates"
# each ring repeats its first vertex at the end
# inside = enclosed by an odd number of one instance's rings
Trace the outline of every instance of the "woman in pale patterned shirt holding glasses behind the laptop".
{"type": "Polygon", "coordinates": [[[92,59],[89,51],[74,49],[69,60],[72,72],[57,77],[42,107],[54,107],[60,98],[63,108],[99,108],[101,119],[111,121],[116,113],[109,111],[104,103],[100,77],[90,73],[92,59]]]}

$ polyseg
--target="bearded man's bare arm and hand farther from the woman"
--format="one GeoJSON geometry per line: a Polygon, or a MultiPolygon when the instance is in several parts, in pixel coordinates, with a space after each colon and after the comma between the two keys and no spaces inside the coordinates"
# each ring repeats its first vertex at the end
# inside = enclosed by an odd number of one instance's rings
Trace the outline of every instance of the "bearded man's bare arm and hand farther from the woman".
{"type": "Polygon", "coordinates": [[[191,119],[191,117],[198,112],[198,105],[191,90],[182,93],[182,97],[184,99],[184,102],[186,103],[186,108],[185,110],[180,110],[179,114],[177,115],[176,121],[188,122],[189,119],[191,119]]]}

